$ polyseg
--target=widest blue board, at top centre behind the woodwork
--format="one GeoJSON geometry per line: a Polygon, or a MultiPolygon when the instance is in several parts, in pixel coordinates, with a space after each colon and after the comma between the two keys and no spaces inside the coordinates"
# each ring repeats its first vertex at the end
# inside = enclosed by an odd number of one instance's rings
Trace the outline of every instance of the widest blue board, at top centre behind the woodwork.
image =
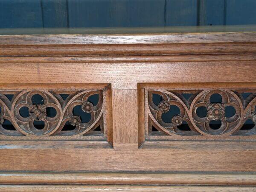
{"type": "Polygon", "coordinates": [[[164,26],[165,0],[68,0],[70,27],[164,26]]]}

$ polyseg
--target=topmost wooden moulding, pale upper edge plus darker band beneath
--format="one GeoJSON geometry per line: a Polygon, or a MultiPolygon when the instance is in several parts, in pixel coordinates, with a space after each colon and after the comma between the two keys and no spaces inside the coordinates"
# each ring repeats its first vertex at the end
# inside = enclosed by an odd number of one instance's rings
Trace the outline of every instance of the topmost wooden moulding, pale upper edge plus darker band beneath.
{"type": "Polygon", "coordinates": [[[1,56],[255,54],[256,32],[0,35],[1,56]]]}

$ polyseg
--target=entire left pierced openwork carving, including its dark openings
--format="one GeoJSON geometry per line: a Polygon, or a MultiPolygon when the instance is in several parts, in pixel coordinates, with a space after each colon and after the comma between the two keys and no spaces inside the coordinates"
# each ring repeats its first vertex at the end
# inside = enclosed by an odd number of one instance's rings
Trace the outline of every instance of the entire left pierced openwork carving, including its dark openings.
{"type": "Polygon", "coordinates": [[[104,98],[105,90],[0,91],[0,138],[105,139],[104,98]],[[42,98],[39,103],[33,101],[34,96],[42,98]],[[93,96],[97,102],[91,101],[93,96]],[[6,121],[10,123],[6,125],[6,121]]]}

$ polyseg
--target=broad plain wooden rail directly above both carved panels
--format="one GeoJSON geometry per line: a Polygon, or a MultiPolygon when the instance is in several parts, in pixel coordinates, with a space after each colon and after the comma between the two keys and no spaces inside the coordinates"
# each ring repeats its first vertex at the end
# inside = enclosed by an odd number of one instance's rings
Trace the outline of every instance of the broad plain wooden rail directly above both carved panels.
{"type": "Polygon", "coordinates": [[[112,89],[137,89],[137,83],[256,82],[256,73],[254,60],[242,63],[240,61],[2,63],[0,82],[1,84],[111,83],[112,89]]]}

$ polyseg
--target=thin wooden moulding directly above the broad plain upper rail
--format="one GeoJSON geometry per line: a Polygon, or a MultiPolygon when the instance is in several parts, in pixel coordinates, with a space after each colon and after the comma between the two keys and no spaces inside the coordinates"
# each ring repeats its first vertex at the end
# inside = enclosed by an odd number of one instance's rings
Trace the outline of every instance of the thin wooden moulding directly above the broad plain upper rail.
{"type": "Polygon", "coordinates": [[[161,56],[5,56],[0,63],[123,63],[123,62],[203,62],[252,61],[256,54],[161,55],[161,56]]]}

